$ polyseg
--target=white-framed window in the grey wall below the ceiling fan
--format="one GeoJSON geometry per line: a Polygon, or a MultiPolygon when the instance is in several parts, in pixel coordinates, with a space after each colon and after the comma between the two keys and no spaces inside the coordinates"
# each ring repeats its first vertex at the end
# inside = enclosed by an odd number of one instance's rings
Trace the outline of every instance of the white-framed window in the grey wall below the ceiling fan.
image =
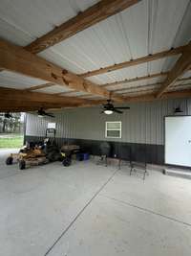
{"type": "Polygon", "coordinates": [[[106,138],[121,138],[121,122],[105,122],[106,138]]]}

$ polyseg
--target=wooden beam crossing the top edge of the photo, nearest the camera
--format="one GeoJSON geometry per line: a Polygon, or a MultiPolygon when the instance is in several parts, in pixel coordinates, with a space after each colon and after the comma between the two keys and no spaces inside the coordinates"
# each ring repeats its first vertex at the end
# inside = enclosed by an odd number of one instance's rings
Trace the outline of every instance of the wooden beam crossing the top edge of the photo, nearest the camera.
{"type": "Polygon", "coordinates": [[[25,47],[25,49],[32,54],[37,54],[54,44],[95,25],[97,22],[137,4],[139,1],[140,0],[99,1],[96,5],[88,8],[84,12],[79,12],[73,18],[56,27],[47,35],[43,35],[36,39],[30,45],[25,47]]]}

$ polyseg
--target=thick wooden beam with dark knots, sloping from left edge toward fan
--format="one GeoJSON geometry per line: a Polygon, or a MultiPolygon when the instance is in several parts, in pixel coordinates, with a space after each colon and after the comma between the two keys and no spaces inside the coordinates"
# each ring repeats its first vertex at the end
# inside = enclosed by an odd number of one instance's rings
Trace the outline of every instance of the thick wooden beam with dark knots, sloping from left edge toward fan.
{"type": "MultiPolygon", "coordinates": [[[[68,86],[77,91],[84,91],[101,97],[110,98],[110,92],[91,81],[85,81],[74,73],[37,57],[22,47],[0,40],[0,66],[13,72],[32,78],[68,86]]],[[[119,96],[113,95],[113,100],[122,102],[119,96]]]]}

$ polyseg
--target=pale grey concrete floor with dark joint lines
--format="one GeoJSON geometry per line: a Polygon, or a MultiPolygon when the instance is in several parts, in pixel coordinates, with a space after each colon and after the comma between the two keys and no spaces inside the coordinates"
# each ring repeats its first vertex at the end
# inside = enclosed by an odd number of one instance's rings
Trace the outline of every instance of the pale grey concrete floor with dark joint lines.
{"type": "Polygon", "coordinates": [[[1,255],[191,255],[191,180],[150,171],[143,182],[94,161],[18,171],[5,157],[1,255]]]}

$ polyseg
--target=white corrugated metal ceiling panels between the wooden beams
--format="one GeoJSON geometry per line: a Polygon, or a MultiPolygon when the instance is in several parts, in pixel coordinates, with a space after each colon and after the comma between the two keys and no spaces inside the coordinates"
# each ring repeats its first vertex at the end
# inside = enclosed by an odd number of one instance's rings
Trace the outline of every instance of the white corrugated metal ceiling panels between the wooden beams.
{"type": "MultiPolygon", "coordinates": [[[[55,26],[67,21],[78,12],[83,12],[96,2],[98,1],[1,0],[0,36],[20,46],[28,45],[37,37],[47,34],[55,26]]],[[[142,0],[137,5],[41,52],[39,56],[74,73],[85,73],[184,45],[191,39],[190,24],[190,0],[142,0]]],[[[178,58],[179,56],[161,58],[88,79],[97,84],[104,84],[165,72],[172,68],[178,58]]],[[[190,73],[185,74],[184,77],[190,75],[190,73]]],[[[123,83],[108,87],[108,89],[144,86],[163,79],[162,77],[123,83]]],[[[46,81],[34,80],[7,71],[0,73],[1,86],[23,89],[43,83],[46,81]]],[[[158,85],[152,88],[157,87],[158,85]]],[[[181,86],[181,88],[184,87],[181,86]]],[[[186,88],[188,87],[186,85],[186,88]]],[[[38,91],[61,93],[67,90],[71,91],[70,88],[56,85],[38,91]]],[[[131,90],[128,89],[127,92],[129,91],[131,90]]],[[[78,92],[72,95],[80,97],[85,95],[84,98],[93,97],[78,92]]]]}

